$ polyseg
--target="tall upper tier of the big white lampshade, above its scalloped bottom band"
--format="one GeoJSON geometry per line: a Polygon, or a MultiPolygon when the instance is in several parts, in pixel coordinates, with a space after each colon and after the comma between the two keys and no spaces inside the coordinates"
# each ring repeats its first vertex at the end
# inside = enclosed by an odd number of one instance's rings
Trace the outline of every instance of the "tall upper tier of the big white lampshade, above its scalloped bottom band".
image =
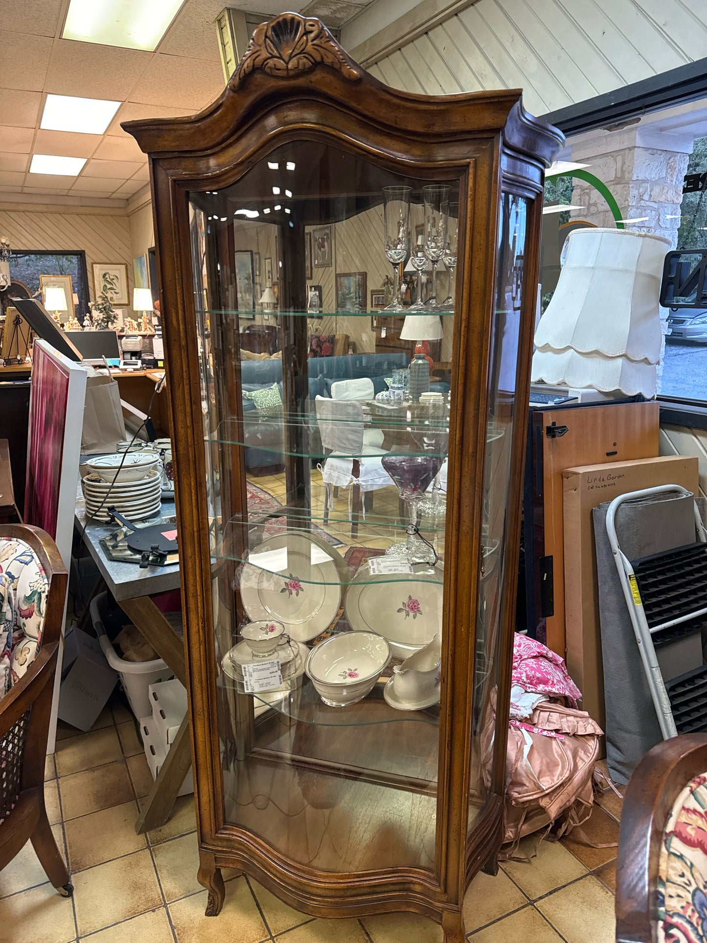
{"type": "Polygon", "coordinates": [[[662,342],[658,297],[669,248],[662,236],[631,229],[570,233],[535,346],[657,364],[662,342]]]}

